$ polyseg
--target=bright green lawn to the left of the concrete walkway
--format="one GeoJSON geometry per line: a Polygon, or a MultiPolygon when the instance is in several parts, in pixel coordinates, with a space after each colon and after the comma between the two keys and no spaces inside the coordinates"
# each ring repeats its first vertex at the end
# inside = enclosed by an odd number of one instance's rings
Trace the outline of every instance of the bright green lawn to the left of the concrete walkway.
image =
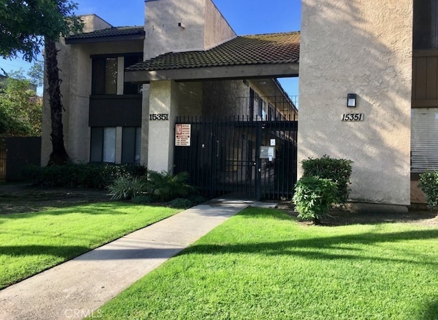
{"type": "Polygon", "coordinates": [[[0,289],[177,211],[103,202],[0,215],[0,289]]]}

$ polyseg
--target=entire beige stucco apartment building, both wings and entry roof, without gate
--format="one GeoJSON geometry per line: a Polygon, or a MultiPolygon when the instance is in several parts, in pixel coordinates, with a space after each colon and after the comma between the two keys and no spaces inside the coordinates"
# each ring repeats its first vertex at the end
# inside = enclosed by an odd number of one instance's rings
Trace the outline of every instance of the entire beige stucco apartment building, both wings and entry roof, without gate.
{"type": "MultiPolygon", "coordinates": [[[[249,97],[246,116],[259,103],[268,119],[274,103],[261,97],[285,96],[275,79],[299,68],[296,176],[303,159],[342,157],[354,161],[352,200],[424,201],[418,174],[438,165],[437,2],[302,0],[300,32],[248,37],[211,0],[146,1],[145,25],[125,29],[88,16],[92,32],[60,44],[68,153],[78,162],[168,170],[177,116],[231,116],[240,112],[237,97],[249,97]],[[99,70],[113,72],[96,78],[99,70]],[[169,120],[152,121],[154,114],[169,120]]],[[[48,129],[46,120],[43,165],[48,129]]]]}

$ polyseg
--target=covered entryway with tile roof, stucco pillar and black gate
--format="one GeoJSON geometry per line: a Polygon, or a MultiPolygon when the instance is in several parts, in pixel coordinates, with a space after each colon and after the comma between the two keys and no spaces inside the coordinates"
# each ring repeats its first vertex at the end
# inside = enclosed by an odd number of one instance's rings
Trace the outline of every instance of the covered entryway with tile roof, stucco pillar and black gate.
{"type": "Polygon", "coordinates": [[[277,78],[298,77],[299,43],[299,32],[236,36],[126,68],[125,81],[150,84],[142,109],[148,168],[187,171],[209,197],[290,198],[298,109],[277,78]],[[175,137],[176,126],[190,144],[175,137]]]}

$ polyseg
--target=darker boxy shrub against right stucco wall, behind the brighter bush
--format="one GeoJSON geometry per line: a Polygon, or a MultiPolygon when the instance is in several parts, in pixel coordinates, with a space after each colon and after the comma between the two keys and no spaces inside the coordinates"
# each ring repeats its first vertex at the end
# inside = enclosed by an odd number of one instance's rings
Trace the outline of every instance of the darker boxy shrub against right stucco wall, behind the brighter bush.
{"type": "Polygon", "coordinates": [[[335,203],[345,204],[350,195],[351,163],[346,159],[334,159],[324,155],[318,159],[307,159],[302,161],[302,176],[318,176],[323,179],[331,179],[337,185],[335,203]]]}

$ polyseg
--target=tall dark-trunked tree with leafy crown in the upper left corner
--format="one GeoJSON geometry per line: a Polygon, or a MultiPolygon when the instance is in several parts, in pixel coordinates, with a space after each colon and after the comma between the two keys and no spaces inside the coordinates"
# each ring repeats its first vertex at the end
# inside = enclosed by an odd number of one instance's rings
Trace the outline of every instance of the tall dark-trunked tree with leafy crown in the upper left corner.
{"type": "Polygon", "coordinates": [[[71,0],[0,0],[0,55],[16,57],[18,53],[31,61],[45,45],[47,83],[51,110],[52,152],[49,165],[65,164],[62,100],[57,67],[56,43],[61,36],[80,31],[83,23],[75,16],[77,3],[71,0]]]}

